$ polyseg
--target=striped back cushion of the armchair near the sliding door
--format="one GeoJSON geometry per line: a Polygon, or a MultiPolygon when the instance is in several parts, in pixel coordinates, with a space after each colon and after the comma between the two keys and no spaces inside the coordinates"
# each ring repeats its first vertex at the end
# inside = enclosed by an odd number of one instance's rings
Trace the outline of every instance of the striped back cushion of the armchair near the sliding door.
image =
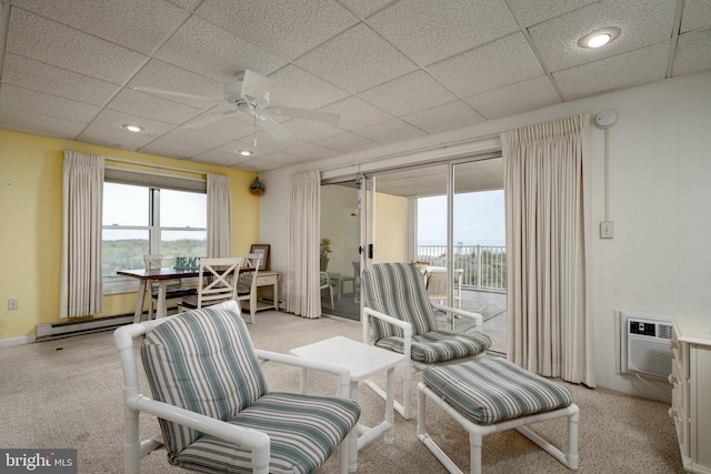
{"type": "MultiPolygon", "coordinates": [[[[422,273],[408,263],[378,263],[361,276],[365,306],[412,324],[412,334],[437,330],[432,304],[424,289],[422,273]]],[[[375,341],[403,336],[400,327],[373,320],[375,341]]]]}

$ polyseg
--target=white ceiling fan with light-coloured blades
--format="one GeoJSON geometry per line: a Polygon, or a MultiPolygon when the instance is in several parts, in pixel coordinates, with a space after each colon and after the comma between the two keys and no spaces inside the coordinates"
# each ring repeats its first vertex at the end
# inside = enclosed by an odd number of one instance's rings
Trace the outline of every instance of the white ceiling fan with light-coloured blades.
{"type": "Polygon", "coordinates": [[[233,110],[213,115],[207,115],[190,122],[187,129],[200,129],[217,122],[224,117],[234,115],[237,113],[247,113],[253,117],[254,125],[259,125],[277,141],[292,138],[291,133],[281,127],[269,114],[292,117],[294,119],[306,119],[317,122],[338,125],[340,115],[328,112],[319,112],[308,109],[298,109],[293,107],[273,105],[269,102],[269,88],[273,80],[254,71],[246,70],[237,73],[237,79],[224,84],[222,98],[213,99],[209,97],[194,95],[183,92],[168,91],[163,89],[134,87],[133,90],[140,92],[160,93],[166,95],[184,97],[188,99],[198,99],[222,105],[232,105],[233,110]]]}

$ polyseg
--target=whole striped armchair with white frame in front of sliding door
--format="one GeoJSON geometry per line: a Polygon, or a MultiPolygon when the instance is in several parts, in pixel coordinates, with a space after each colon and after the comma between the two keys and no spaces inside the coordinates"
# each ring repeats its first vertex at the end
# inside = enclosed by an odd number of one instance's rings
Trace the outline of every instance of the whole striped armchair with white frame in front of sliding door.
{"type": "MultiPolygon", "coordinates": [[[[479,329],[481,314],[444,306],[429,300],[422,273],[408,263],[378,263],[363,270],[364,299],[361,321],[363,342],[405,355],[403,400],[395,410],[405,420],[411,415],[412,373],[432,365],[460,363],[485,353],[491,339],[478,331],[457,333],[438,329],[434,310],[473,319],[479,329]]],[[[378,395],[385,391],[365,382],[378,395]]]]}

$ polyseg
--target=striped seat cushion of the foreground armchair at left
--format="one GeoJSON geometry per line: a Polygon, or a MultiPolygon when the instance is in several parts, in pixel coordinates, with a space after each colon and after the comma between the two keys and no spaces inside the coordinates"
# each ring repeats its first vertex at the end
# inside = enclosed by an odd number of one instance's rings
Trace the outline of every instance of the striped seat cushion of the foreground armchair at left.
{"type": "MultiPolygon", "coordinates": [[[[271,392],[230,422],[270,437],[269,472],[313,473],[356,425],[360,409],[346,399],[271,392]]],[[[251,473],[250,454],[204,435],[177,456],[177,464],[209,473],[251,473]]]]}

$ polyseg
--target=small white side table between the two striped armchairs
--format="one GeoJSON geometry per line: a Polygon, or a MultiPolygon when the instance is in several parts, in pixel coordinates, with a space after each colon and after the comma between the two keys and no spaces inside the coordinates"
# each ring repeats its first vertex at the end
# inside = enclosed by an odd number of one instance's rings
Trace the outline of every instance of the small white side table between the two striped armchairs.
{"type": "MultiPolygon", "coordinates": [[[[385,444],[391,444],[394,436],[394,369],[404,361],[404,355],[392,351],[363,344],[352,339],[336,336],[313,344],[292,349],[292,354],[316,361],[328,361],[346,365],[351,373],[350,396],[358,401],[358,382],[367,380],[380,372],[387,371],[387,400],[384,420],[373,427],[358,424],[348,440],[348,456],[350,472],[358,470],[358,452],[371,441],[384,434],[385,444]]],[[[307,370],[301,372],[301,391],[308,387],[307,370]]]]}

